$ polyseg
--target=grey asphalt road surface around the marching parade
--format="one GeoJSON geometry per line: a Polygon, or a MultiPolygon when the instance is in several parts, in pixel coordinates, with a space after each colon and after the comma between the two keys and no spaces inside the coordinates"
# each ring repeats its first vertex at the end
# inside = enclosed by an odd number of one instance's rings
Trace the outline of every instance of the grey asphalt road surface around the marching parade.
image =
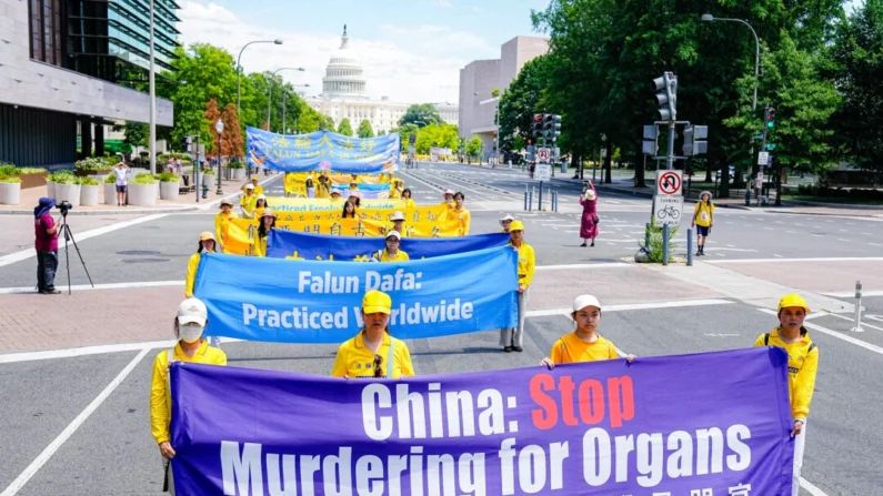
{"type": "MultiPolygon", "coordinates": [[[[601,236],[594,249],[583,249],[579,247],[575,210],[579,184],[553,182],[568,212],[525,213],[524,185],[533,183],[518,172],[451,164],[403,171],[401,175],[421,204],[441,201],[439,188],[463,191],[468,207],[473,211],[473,232],[496,231],[496,220],[503,213],[523,219],[528,242],[535,247],[541,266],[599,264],[631,256],[649,217],[648,200],[601,193],[601,236]]],[[[281,183],[267,190],[271,195],[280,194],[281,183]]],[[[719,209],[716,214],[706,260],[881,254],[873,245],[883,243],[880,221],[728,209],[719,209]]],[[[71,222],[77,233],[76,219],[71,222]]],[[[167,215],[88,239],[80,249],[97,284],[181,281],[187,259],[197,247],[198,233],[212,229],[212,222],[213,212],[167,215]]],[[[82,266],[74,252],[71,256],[73,283],[83,284],[87,281],[82,266]]],[[[32,285],[33,264],[30,259],[0,266],[0,286],[32,285]]],[[[60,277],[59,285],[63,281],[60,277]]],[[[628,287],[640,283],[624,280],[618,284],[628,287]]],[[[560,284],[591,286],[589,281],[574,281],[566,275],[560,284]]],[[[592,291],[603,301],[609,290],[592,291]]],[[[126,297],[124,292],[119,295],[126,297]]],[[[851,302],[846,296],[839,297],[851,302]]],[[[883,419],[883,296],[866,297],[863,305],[865,327],[861,334],[851,331],[855,325],[851,314],[820,314],[809,321],[821,361],[803,469],[803,477],[813,486],[812,492],[804,487],[804,496],[883,494],[883,474],[879,469],[883,434],[876,427],[883,419]]],[[[774,315],[733,298],[705,306],[663,306],[626,305],[605,312],[600,332],[624,352],[639,355],[640,361],[641,356],[750,346],[776,323],[774,315]]],[[[529,317],[524,353],[501,353],[495,332],[417,340],[408,345],[421,375],[539,366],[552,343],[572,328],[564,315],[529,317]]],[[[335,350],[328,345],[240,342],[224,343],[223,348],[230,366],[315,374],[328,374],[335,350]]],[[[6,447],[0,457],[0,492],[20,474],[32,474],[20,490],[0,495],[161,494],[161,464],[150,435],[148,413],[151,364],[157,353],[159,350],[144,356],[128,351],[9,363],[0,360],[0,439],[6,447]],[[127,365],[133,366],[131,373],[99,402],[70,438],[57,451],[50,449],[49,456],[40,457],[127,365]],[[46,464],[29,470],[36,459],[44,459],[46,464]]]]}

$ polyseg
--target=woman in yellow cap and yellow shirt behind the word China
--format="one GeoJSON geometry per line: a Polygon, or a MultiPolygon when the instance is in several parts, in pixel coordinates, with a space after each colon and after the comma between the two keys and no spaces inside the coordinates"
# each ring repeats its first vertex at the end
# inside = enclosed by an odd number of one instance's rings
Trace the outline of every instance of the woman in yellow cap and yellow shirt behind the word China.
{"type": "Polygon", "coordinates": [[[380,291],[365,293],[362,298],[363,327],[338,348],[332,377],[401,378],[414,375],[408,345],[390,335],[391,313],[390,295],[380,291]]]}

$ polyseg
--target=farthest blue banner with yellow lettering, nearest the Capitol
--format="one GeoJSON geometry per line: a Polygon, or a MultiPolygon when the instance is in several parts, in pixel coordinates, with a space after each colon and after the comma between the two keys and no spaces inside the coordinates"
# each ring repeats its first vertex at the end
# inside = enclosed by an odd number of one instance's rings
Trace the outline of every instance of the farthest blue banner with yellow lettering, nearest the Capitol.
{"type": "Polygon", "coordinates": [[[284,172],[379,174],[399,170],[399,134],[350,138],[331,131],[277,134],[245,130],[249,165],[284,172]]]}

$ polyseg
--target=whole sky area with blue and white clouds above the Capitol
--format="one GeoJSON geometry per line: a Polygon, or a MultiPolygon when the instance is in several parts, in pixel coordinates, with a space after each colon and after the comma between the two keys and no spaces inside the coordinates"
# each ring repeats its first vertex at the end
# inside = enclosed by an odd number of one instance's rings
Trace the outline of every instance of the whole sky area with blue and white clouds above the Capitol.
{"type": "Polygon", "coordinates": [[[399,102],[458,101],[460,69],[496,59],[500,45],[533,31],[531,9],[549,0],[183,0],[178,29],[185,44],[207,42],[235,58],[247,72],[280,71],[308,97],[322,90],[330,58],[347,24],[350,48],[362,62],[368,95],[399,102]]]}

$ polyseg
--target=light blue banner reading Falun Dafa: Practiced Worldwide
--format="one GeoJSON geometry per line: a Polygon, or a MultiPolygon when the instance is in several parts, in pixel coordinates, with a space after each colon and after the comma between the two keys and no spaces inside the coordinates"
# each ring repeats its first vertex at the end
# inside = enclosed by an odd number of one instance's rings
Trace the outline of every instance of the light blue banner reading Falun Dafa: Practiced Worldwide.
{"type": "Polygon", "coordinates": [[[501,246],[395,263],[204,254],[194,294],[208,335],[273,343],[342,343],[362,328],[362,296],[392,297],[399,338],[514,327],[518,253],[501,246]]]}

